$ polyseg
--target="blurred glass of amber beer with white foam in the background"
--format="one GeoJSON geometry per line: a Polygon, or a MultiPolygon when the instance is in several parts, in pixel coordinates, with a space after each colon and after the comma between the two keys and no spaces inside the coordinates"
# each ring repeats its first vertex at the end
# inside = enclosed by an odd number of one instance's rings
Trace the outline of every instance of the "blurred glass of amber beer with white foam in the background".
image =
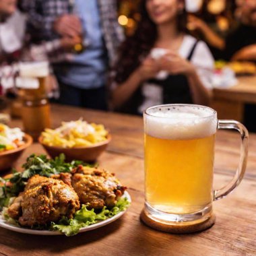
{"type": "Polygon", "coordinates": [[[37,140],[40,133],[50,127],[50,106],[46,95],[49,76],[47,62],[20,63],[18,87],[22,91],[22,121],[24,131],[37,140]]]}

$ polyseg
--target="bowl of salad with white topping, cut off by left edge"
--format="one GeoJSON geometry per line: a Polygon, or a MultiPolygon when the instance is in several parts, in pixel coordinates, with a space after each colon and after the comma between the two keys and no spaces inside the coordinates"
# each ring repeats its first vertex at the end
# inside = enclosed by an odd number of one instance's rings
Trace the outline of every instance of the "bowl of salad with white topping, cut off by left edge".
{"type": "Polygon", "coordinates": [[[32,141],[20,128],[0,124],[0,171],[11,168],[32,141]]]}

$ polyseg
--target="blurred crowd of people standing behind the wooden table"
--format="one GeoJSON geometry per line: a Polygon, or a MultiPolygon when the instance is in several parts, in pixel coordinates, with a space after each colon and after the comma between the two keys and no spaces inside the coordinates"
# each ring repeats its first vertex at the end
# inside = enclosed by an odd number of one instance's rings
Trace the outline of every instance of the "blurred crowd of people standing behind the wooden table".
{"type": "Polygon", "coordinates": [[[38,61],[60,104],[210,105],[214,86],[256,73],[256,1],[0,0],[0,94],[17,100],[21,63],[38,61]]]}

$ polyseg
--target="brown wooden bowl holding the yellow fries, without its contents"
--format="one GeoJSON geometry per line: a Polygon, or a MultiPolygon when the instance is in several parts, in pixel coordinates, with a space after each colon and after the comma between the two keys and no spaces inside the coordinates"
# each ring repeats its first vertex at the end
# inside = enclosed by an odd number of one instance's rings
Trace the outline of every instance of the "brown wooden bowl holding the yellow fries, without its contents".
{"type": "Polygon", "coordinates": [[[108,146],[111,140],[111,136],[108,134],[105,141],[96,143],[92,146],[81,147],[81,148],[61,148],[57,146],[48,146],[42,143],[42,135],[38,138],[39,143],[44,147],[44,150],[51,156],[55,158],[59,154],[65,154],[65,160],[71,162],[72,160],[82,160],[84,162],[94,162],[108,146]]]}

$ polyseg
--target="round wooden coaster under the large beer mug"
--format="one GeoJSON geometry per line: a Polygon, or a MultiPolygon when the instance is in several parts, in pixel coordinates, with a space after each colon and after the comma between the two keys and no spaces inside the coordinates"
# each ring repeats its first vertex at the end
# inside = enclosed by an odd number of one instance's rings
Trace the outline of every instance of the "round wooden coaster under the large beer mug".
{"type": "Polygon", "coordinates": [[[162,231],[162,232],[168,232],[173,234],[189,234],[194,232],[203,231],[207,228],[210,228],[214,225],[216,217],[213,214],[210,216],[209,219],[205,220],[201,223],[196,224],[185,224],[183,222],[182,225],[178,226],[177,224],[171,225],[171,224],[162,224],[160,222],[156,222],[152,218],[149,218],[144,210],[142,210],[140,214],[141,221],[146,224],[147,226],[150,226],[150,228],[154,228],[156,230],[162,231]]]}

